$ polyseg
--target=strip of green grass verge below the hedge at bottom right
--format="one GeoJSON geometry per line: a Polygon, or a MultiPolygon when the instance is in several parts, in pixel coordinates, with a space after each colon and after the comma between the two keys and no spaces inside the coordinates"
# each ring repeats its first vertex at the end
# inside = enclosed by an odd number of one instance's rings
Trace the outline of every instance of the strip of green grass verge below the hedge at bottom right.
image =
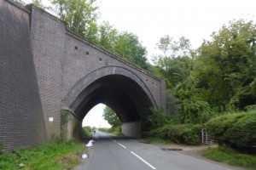
{"type": "Polygon", "coordinates": [[[230,165],[256,169],[256,156],[239,153],[224,146],[208,148],[203,152],[203,156],[206,156],[213,161],[220,161],[230,165]]]}

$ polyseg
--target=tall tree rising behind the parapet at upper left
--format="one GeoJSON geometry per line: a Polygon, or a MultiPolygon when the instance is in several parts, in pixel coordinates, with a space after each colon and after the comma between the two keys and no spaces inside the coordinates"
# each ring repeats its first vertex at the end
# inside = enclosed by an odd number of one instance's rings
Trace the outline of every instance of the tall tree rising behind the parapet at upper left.
{"type": "Polygon", "coordinates": [[[96,0],[52,0],[61,20],[67,23],[67,29],[96,41],[98,17],[96,0]]]}

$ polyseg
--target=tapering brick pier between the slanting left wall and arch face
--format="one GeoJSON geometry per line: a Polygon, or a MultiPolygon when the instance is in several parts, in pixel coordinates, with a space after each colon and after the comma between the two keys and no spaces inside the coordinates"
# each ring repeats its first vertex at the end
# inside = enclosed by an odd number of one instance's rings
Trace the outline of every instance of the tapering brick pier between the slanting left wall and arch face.
{"type": "Polygon", "coordinates": [[[61,20],[32,6],[31,42],[38,77],[47,138],[60,134],[62,59],[65,48],[65,26],[61,20]],[[49,122],[49,117],[53,122],[49,122]]]}

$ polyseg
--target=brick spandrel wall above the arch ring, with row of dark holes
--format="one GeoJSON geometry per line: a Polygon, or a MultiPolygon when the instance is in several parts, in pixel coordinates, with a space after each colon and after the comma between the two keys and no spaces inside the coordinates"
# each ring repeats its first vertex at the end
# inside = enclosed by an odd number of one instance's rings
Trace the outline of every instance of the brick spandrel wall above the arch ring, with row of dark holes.
{"type": "Polygon", "coordinates": [[[161,87],[161,81],[159,79],[144,73],[137,67],[127,64],[123,59],[119,59],[102,48],[97,48],[93,44],[85,42],[81,38],[68,32],[66,34],[65,45],[65,59],[63,60],[64,96],[77,82],[79,82],[79,80],[83,79],[83,77],[90,72],[96,71],[107,65],[115,65],[124,67],[140,77],[143,83],[150,89],[150,93],[153,95],[156,105],[161,105],[162,95],[165,94],[161,94],[160,91],[166,84],[161,87]]]}

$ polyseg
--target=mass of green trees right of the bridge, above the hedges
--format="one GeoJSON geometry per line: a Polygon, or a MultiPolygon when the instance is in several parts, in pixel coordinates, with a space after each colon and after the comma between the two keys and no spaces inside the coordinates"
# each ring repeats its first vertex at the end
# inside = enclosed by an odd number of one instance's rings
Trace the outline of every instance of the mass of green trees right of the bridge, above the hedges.
{"type": "Polygon", "coordinates": [[[178,122],[207,122],[256,103],[255,42],[256,26],[247,20],[230,21],[197,50],[185,37],[160,38],[154,65],[166,79],[168,93],[180,101],[178,122]]]}

